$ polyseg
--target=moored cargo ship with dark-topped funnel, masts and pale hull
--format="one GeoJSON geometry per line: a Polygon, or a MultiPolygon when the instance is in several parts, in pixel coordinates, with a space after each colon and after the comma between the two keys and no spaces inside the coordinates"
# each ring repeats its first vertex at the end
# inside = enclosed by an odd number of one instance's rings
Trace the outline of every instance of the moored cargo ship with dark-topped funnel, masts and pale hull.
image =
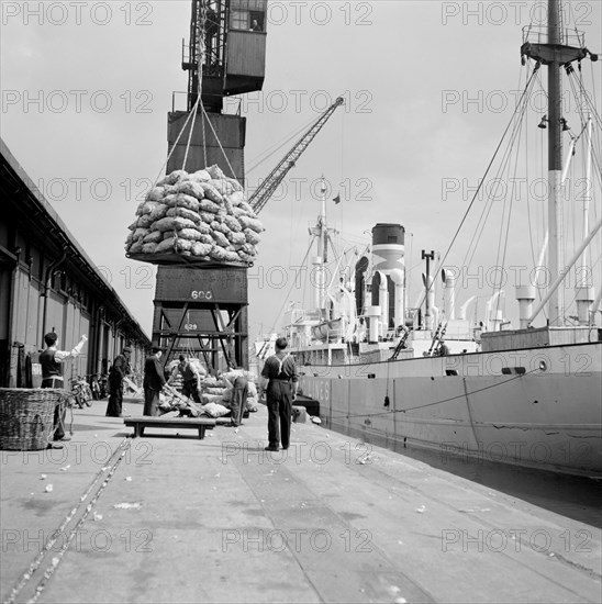
{"type": "MultiPolygon", "coordinates": [[[[424,289],[410,309],[405,232],[398,223],[374,226],[370,251],[348,272],[336,267],[338,281],[327,282],[333,271],[326,269],[324,255],[332,233],[323,195],[321,214],[310,230],[317,242],[314,307],[291,307],[280,333],[297,359],[301,392],[319,402],[325,427],[395,449],[427,447],[442,456],[602,476],[601,294],[593,288],[595,273],[583,266],[602,221],[590,228],[584,210],[582,243],[566,267],[561,251],[561,142],[568,126],[561,113],[560,72],[571,77],[573,63],[595,61],[598,56],[586,47],[582,34],[562,30],[559,10],[559,2],[550,1],[547,29],[526,29],[521,47],[523,65],[533,66],[532,79],[540,67],[548,70],[548,112],[539,126],[548,130],[549,145],[549,288],[542,293],[531,281],[516,283],[517,328],[510,328],[495,312],[494,299],[501,292],[489,301],[482,321],[467,318],[470,299],[456,312],[454,271],[443,260],[433,270],[435,254],[423,250],[424,289]],[[569,313],[559,286],[575,267],[584,269],[584,277],[569,313]],[[441,311],[435,305],[439,275],[441,311]],[[547,318],[540,318],[542,310],[547,318]]],[[[527,88],[528,82],[525,93],[527,88]]],[[[525,107],[521,99],[516,120],[525,107]]],[[[595,108],[589,115],[583,112],[579,136],[592,141],[592,122],[600,122],[595,108]]],[[[571,135],[569,160],[576,138],[571,135]]],[[[588,182],[599,186],[600,175],[589,176],[588,182]]],[[[600,200],[599,192],[590,199],[600,200]]],[[[270,353],[269,344],[257,344],[259,363],[270,353]]]]}

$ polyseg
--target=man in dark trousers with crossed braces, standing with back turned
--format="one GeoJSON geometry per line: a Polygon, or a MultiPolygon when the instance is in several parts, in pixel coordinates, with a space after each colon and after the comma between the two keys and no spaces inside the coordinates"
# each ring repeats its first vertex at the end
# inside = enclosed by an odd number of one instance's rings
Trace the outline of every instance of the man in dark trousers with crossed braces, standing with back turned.
{"type": "Polygon", "coordinates": [[[276,340],[276,354],[269,357],[261,370],[259,398],[266,393],[268,407],[268,446],[266,451],[277,451],[290,445],[292,403],[297,399],[299,376],[294,358],[287,351],[287,338],[276,340]]]}

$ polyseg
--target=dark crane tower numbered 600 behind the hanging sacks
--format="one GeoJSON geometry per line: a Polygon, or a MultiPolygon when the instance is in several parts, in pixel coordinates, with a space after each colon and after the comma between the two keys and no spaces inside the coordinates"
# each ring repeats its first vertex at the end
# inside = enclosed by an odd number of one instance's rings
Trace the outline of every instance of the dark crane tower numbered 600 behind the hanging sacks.
{"type": "MultiPolygon", "coordinates": [[[[190,40],[182,43],[187,110],[167,116],[167,172],[218,164],[244,184],[246,120],[224,113],[223,99],[261,89],[267,0],[192,0],[191,13],[190,40]],[[197,101],[204,111],[185,127],[197,101]]],[[[168,348],[166,359],[193,350],[212,369],[220,358],[248,367],[245,268],[159,266],[154,305],[153,342],[168,348]]]]}

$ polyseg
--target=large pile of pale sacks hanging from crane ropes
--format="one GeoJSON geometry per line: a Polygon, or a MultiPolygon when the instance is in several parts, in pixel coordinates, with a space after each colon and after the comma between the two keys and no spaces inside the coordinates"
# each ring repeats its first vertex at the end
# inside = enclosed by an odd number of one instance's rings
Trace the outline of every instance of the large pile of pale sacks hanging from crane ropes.
{"type": "Polygon", "coordinates": [[[218,166],[159,180],[136,210],[125,251],[252,265],[264,225],[237,180],[218,166]]]}

